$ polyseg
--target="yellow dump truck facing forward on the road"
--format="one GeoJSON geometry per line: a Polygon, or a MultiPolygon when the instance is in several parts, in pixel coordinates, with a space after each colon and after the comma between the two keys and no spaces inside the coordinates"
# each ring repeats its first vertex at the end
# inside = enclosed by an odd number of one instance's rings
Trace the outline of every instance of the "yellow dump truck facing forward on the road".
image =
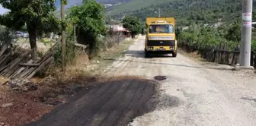
{"type": "Polygon", "coordinates": [[[174,17],[147,17],[145,56],[151,53],[172,54],[177,56],[174,17]]]}

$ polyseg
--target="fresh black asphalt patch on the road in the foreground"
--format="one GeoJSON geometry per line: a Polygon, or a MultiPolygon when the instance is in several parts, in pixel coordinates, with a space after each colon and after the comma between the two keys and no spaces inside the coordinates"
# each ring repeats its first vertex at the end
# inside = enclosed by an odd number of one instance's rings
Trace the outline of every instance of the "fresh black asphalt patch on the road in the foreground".
{"type": "Polygon", "coordinates": [[[40,121],[27,125],[37,126],[123,126],[133,118],[150,112],[157,93],[155,80],[111,80],[82,90],[63,106],[59,106],[40,121]],[[149,105],[150,103],[150,105],[149,105]]]}

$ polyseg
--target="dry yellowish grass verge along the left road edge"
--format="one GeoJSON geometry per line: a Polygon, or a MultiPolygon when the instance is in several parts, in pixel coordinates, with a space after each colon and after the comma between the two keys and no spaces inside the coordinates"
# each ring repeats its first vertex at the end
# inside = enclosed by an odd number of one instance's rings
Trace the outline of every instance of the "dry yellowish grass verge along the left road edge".
{"type": "Polygon", "coordinates": [[[114,44],[114,46],[101,52],[98,57],[91,60],[89,60],[88,55],[85,55],[85,53],[78,52],[75,61],[68,63],[65,74],[62,73],[61,68],[54,68],[54,66],[50,68],[49,73],[53,73],[53,76],[62,82],[74,77],[98,77],[104,68],[113,63],[113,61],[106,60],[105,58],[118,58],[124,55],[126,49],[133,42],[133,39],[129,39],[119,45],[114,44]]]}

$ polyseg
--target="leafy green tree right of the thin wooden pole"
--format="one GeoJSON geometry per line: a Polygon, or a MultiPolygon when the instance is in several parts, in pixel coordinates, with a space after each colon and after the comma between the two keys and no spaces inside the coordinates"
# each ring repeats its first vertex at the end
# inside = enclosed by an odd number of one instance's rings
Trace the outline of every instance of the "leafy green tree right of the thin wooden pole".
{"type": "Polygon", "coordinates": [[[104,6],[95,0],[84,0],[82,5],[70,8],[69,18],[76,26],[78,43],[89,44],[90,56],[97,53],[98,36],[104,35],[104,6]]]}

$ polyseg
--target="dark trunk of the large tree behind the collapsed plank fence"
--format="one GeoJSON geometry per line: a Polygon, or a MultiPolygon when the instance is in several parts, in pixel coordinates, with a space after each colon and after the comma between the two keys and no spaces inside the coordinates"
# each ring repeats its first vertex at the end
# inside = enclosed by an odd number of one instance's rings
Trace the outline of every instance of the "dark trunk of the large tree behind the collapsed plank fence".
{"type": "Polygon", "coordinates": [[[37,60],[37,32],[36,30],[28,30],[30,48],[32,49],[31,58],[37,60]]]}

